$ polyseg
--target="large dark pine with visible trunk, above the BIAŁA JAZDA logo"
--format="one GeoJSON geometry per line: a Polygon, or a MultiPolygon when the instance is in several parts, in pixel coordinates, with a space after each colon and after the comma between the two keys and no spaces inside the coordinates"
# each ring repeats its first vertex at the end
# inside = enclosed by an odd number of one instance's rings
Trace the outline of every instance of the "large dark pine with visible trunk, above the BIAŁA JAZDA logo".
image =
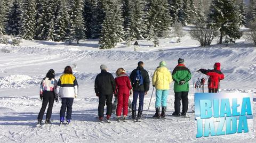
{"type": "Polygon", "coordinates": [[[226,36],[227,42],[235,42],[242,36],[239,31],[239,15],[234,0],[213,0],[210,6],[210,26],[220,30],[220,41],[226,36]]]}

